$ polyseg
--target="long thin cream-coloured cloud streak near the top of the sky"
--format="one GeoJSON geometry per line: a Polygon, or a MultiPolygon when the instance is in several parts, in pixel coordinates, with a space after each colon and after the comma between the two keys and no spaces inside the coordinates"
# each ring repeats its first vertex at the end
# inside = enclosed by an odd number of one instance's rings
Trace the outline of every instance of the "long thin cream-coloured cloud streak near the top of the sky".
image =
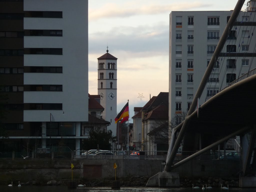
{"type": "Polygon", "coordinates": [[[179,2],[168,5],[144,5],[134,6],[134,4],[118,5],[114,3],[106,3],[104,6],[97,9],[89,9],[89,21],[101,18],[114,18],[114,17],[130,17],[134,15],[152,15],[162,14],[164,12],[171,12],[176,10],[190,10],[193,8],[209,7],[211,4],[204,4],[197,1],[194,2],[179,2]]]}

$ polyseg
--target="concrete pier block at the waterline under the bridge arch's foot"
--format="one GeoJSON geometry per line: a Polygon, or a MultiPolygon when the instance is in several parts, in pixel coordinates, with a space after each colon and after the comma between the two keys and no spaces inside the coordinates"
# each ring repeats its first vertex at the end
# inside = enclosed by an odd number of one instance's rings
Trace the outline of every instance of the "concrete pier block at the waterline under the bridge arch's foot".
{"type": "Polygon", "coordinates": [[[150,177],[146,187],[180,187],[178,172],[158,172],[150,177]]]}

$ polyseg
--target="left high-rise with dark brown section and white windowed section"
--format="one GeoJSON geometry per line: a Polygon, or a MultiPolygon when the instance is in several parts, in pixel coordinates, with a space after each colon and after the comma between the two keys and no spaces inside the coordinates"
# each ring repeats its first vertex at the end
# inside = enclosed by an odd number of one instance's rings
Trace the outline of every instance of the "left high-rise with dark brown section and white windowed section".
{"type": "Polygon", "coordinates": [[[40,138],[42,148],[62,138],[79,149],[82,122],[88,122],[88,1],[0,6],[1,91],[8,94],[5,108],[17,114],[2,122],[9,138],[40,138]]]}

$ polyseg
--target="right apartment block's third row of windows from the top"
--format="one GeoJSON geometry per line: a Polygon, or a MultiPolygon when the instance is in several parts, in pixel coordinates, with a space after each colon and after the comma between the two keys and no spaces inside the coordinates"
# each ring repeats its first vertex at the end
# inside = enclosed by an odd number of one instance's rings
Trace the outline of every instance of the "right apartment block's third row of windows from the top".
{"type": "MultiPolygon", "coordinates": [[[[217,45],[207,45],[207,54],[214,53],[217,45]]],[[[194,53],[194,45],[188,45],[188,54],[194,53]]],[[[242,51],[248,51],[249,45],[242,45],[242,51]]],[[[227,52],[236,52],[236,45],[227,45],[227,52]]],[[[182,54],[182,45],[176,45],[176,54],[182,54]]]]}

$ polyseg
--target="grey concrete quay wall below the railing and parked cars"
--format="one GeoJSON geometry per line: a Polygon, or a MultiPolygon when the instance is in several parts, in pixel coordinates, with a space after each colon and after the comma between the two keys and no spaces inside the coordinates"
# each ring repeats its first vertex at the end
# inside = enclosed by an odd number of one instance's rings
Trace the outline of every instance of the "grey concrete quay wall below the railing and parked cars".
{"type": "MultiPolygon", "coordinates": [[[[0,182],[9,180],[113,178],[117,164],[117,177],[151,177],[163,170],[163,159],[0,159],[0,182]]],[[[193,159],[174,171],[180,178],[238,177],[239,161],[193,159]]]]}

